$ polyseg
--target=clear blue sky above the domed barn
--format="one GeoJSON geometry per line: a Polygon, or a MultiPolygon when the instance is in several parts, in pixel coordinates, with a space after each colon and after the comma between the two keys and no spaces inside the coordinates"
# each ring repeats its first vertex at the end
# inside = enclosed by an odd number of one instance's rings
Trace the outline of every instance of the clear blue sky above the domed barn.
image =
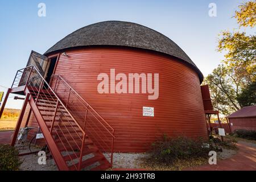
{"type": "MultiPolygon", "coordinates": [[[[2,86],[11,86],[16,71],[26,66],[32,49],[44,53],[78,28],[104,20],[135,22],[161,32],[177,43],[207,76],[223,59],[223,54],[216,52],[217,35],[221,30],[237,28],[232,16],[241,2],[1,0],[0,91],[6,92],[2,86]],[[41,2],[46,4],[46,17],[38,16],[41,2]],[[217,17],[208,15],[212,2],[217,5],[217,17]]],[[[22,101],[10,98],[6,107],[21,105],[22,101]]]]}

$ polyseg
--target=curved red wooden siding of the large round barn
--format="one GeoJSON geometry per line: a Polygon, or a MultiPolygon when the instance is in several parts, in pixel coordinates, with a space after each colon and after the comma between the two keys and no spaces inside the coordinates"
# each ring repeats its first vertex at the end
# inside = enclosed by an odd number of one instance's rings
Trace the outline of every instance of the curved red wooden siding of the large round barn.
{"type": "Polygon", "coordinates": [[[207,138],[199,76],[181,61],[117,47],[65,52],[68,57],[60,56],[55,74],[63,76],[115,129],[114,151],[146,151],[163,134],[207,138]],[[97,76],[110,76],[111,68],[115,68],[116,75],[159,73],[158,100],[148,100],[148,94],[99,94],[97,76]],[[154,107],[155,117],[143,117],[143,106],[154,107]]]}

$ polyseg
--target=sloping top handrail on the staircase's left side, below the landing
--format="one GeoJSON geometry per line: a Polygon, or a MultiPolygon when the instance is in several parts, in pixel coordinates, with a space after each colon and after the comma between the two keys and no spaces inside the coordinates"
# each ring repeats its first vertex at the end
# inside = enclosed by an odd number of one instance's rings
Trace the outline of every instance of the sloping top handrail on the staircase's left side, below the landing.
{"type": "MultiPolygon", "coordinates": [[[[44,77],[40,74],[40,72],[38,71],[38,69],[34,66],[34,65],[30,65],[28,67],[25,67],[23,69],[27,69],[31,67],[31,71],[34,68],[36,70],[36,72],[38,72],[39,76],[43,79],[43,82],[48,86],[48,88],[52,91],[52,93],[55,95],[55,97],[57,98],[57,100],[59,101],[59,103],[64,107],[64,109],[67,111],[67,113],[71,116],[71,118],[73,119],[73,121],[76,123],[77,127],[79,127],[79,129],[81,130],[82,134],[85,135],[85,131],[82,129],[82,127],[79,125],[79,123],[76,121],[76,119],[73,117],[73,115],[69,112],[69,110],[67,109],[67,107],[63,104],[63,102],[60,100],[60,98],[57,96],[57,94],[53,91],[53,89],[51,88],[51,86],[49,86],[49,84],[47,83],[47,81],[44,79],[44,77]]],[[[19,69],[19,71],[22,69],[19,69]]],[[[29,77],[28,77],[29,78],[29,77]]],[[[27,86],[27,83],[26,83],[27,86]]]]}

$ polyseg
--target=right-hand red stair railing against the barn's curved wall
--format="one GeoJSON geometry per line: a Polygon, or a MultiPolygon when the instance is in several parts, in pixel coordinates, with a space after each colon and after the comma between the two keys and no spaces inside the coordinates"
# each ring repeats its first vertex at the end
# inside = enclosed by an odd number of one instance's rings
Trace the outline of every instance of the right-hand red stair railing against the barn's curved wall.
{"type": "Polygon", "coordinates": [[[112,166],[115,138],[113,127],[63,77],[52,75],[50,85],[112,166]]]}

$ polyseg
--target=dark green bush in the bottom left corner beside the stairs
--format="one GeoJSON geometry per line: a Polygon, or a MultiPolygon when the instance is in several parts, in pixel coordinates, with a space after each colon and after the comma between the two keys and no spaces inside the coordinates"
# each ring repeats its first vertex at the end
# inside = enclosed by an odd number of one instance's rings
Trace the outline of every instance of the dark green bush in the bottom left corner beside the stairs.
{"type": "Polygon", "coordinates": [[[0,171],[14,171],[20,166],[18,150],[15,147],[0,144],[0,171]]]}

